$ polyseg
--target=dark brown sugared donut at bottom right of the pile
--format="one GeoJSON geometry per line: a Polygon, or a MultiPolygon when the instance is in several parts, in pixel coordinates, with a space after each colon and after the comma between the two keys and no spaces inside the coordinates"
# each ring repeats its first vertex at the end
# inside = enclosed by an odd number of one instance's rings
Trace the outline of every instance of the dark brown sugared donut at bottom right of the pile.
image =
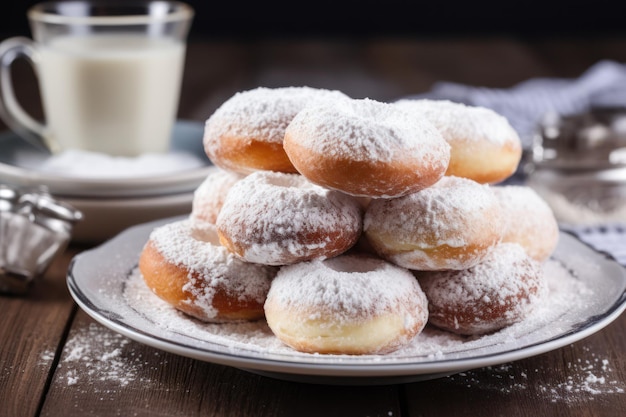
{"type": "Polygon", "coordinates": [[[539,265],[520,245],[502,243],[467,270],[416,272],[428,298],[429,322],[477,335],[521,321],[547,291],[539,265]]]}

